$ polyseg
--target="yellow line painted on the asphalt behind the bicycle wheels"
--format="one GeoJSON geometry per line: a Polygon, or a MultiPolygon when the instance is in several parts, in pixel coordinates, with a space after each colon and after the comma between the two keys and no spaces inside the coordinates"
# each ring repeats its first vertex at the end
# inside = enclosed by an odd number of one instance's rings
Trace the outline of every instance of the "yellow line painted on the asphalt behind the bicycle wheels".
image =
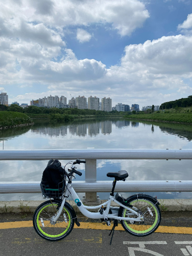
{"type": "MultiPolygon", "coordinates": [[[[15,221],[15,222],[3,222],[0,223],[0,229],[10,229],[10,228],[20,228],[20,227],[33,227],[32,221],[15,221]]],[[[93,223],[93,222],[81,222],[81,226],[77,227],[74,225],[74,228],[79,229],[93,229],[93,230],[111,230],[112,225],[108,227],[104,223],[93,223]]],[[[121,225],[116,227],[116,230],[124,230],[121,225]]],[[[160,226],[155,232],[160,233],[175,233],[175,234],[191,234],[192,227],[166,227],[160,226]]]]}

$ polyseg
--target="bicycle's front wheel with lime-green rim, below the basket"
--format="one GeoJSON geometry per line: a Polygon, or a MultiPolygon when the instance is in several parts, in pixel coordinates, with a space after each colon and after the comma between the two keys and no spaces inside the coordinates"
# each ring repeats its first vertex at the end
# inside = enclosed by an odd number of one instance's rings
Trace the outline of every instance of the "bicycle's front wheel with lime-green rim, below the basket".
{"type": "Polygon", "coordinates": [[[61,215],[54,225],[50,223],[54,219],[61,203],[58,200],[48,200],[35,210],[33,215],[33,227],[42,238],[49,241],[58,241],[65,238],[73,230],[75,218],[72,209],[65,203],[61,215]]]}

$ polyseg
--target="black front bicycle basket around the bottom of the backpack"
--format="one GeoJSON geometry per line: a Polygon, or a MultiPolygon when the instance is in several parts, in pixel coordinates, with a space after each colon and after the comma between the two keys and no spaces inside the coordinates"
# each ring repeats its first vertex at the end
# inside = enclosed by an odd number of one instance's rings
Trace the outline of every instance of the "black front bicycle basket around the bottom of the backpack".
{"type": "Polygon", "coordinates": [[[40,184],[41,192],[44,197],[47,198],[59,198],[62,197],[65,190],[65,180],[58,183],[57,188],[50,188],[49,182],[43,181],[40,184]]]}

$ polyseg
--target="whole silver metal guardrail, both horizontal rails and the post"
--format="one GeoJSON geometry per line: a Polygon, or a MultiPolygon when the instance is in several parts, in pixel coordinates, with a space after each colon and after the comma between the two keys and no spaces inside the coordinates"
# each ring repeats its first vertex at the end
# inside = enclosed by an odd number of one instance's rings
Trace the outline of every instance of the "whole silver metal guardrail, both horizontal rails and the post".
{"type": "MultiPolygon", "coordinates": [[[[0,160],[70,160],[85,159],[85,181],[73,182],[77,192],[86,192],[90,201],[96,192],[111,191],[108,181],[96,181],[97,159],[192,159],[192,150],[159,149],[69,149],[69,150],[1,150],[0,160]]],[[[0,182],[0,193],[40,193],[40,182],[0,182]]],[[[121,192],[192,192],[192,180],[117,182],[121,192]]]]}

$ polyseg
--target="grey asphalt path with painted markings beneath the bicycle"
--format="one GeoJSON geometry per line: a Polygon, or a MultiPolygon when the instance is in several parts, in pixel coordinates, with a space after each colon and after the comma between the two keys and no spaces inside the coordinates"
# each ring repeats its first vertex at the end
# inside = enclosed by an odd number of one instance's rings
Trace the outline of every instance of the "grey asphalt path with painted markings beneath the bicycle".
{"type": "Polygon", "coordinates": [[[9,224],[18,224],[20,221],[30,223],[31,220],[30,215],[0,215],[0,227],[6,227],[0,228],[0,256],[192,256],[191,212],[166,213],[162,218],[160,232],[157,230],[141,238],[123,230],[115,230],[111,245],[110,230],[105,230],[106,225],[96,223],[97,227],[103,226],[103,230],[92,228],[93,222],[81,216],[80,228],[74,228],[70,235],[57,242],[39,237],[33,227],[8,228],[9,224]],[[86,225],[89,228],[81,228],[86,225]],[[167,229],[162,232],[163,227],[167,229]],[[176,227],[177,231],[172,227],[176,227]]]}

